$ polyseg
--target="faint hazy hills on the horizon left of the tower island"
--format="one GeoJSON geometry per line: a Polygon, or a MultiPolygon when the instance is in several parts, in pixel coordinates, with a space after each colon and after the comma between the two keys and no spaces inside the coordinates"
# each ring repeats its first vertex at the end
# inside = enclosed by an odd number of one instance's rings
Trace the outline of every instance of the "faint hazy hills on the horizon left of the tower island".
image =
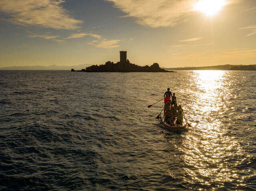
{"type": "Polygon", "coordinates": [[[70,68],[74,68],[76,70],[85,69],[91,64],[80,64],[80,65],[50,65],[50,66],[10,66],[10,67],[2,67],[0,70],[70,70],[70,68]]]}

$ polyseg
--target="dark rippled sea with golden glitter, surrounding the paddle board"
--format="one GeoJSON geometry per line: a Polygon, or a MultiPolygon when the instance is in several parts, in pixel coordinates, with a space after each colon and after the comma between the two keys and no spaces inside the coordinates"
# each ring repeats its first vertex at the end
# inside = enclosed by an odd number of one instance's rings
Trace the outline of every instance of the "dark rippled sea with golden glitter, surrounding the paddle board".
{"type": "Polygon", "coordinates": [[[0,71],[0,190],[255,191],[255,103],[255,71],[0,71]]]}

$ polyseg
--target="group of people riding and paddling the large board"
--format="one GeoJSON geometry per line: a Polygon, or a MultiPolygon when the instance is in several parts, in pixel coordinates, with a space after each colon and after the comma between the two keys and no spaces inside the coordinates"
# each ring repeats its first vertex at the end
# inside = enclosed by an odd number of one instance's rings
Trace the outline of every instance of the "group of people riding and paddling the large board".
{"type": "Polygon", "coordinates": [[[170,92],[170,88],[164,93],[164,121],[170,125],[183,123],[183,109],[178,106],[175,93],[170,92]]]}

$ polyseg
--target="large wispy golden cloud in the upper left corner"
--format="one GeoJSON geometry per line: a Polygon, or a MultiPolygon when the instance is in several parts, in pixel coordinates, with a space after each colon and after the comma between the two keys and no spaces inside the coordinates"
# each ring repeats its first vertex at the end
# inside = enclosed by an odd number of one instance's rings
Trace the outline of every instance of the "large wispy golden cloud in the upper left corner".
{"type": "Polygon", "coordinates": [[[64,0],[1,0],[0,12],[9,14],[13,24],[74,30],[81,20],[70,17],[60,4],[64,0]]]}

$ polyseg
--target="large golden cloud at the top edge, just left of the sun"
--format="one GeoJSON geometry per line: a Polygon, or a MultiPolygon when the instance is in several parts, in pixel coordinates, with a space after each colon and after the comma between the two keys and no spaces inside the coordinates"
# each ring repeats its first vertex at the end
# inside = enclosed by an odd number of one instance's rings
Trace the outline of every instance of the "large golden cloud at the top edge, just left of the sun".
{"type": "Polygon", "coordinates": [[[156,27],[174,26],[183,22],[193,11],[196,0],[107,0],[126,13],[124,17],[136,18],[141,25],[156,27]]]}

